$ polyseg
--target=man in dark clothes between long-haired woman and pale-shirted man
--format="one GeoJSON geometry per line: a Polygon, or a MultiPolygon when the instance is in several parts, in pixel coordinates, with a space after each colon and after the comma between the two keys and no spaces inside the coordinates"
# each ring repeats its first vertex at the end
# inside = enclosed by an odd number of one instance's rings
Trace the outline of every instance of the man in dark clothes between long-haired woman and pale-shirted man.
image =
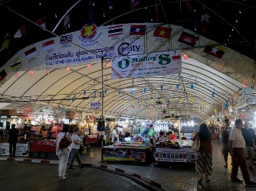
{"type": "Polygon", "coordinates": [[[231,131],[230,121],[229,119],[225,119],[225,125],[222,127],[222,154],[225,160],[225,165],[224,165],[225,168],[228,167],[228,153],[229,153],[228,138],[229,138],[230,131],[231,131]]]}

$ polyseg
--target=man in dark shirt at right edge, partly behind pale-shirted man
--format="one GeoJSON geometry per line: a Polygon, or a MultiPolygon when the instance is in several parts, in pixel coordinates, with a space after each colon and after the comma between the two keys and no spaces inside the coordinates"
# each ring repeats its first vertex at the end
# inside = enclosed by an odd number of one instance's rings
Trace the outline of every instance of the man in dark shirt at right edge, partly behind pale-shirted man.
{"type": "Polygon", "coordinates": [[[250,123],[248,120],[245,121],[245,128],[241,129],[241,133],[245,139],[245,149],[244,149],[244,157],[245,161],[249,158],[249,167],[248,170],[254,172],[255,170],[251,167],[251,164],[254,161],[254,149],[256,148],[256,135],[252,128],[250,128],[250,123]]]}

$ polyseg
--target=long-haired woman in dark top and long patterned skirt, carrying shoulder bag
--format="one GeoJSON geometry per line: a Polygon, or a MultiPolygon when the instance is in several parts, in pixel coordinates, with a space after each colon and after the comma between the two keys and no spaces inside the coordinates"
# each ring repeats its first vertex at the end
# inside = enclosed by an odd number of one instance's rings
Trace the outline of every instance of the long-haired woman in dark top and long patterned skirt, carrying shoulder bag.
{"type": "Polygon", "coordinates": [[[210,182],[208,176],[212,175],[212,140],[214,135],[208,129],[207,125],[202,124],[199,127],[199,132],[197,132],[192,139],[196,141],[199,137],[200,148],[197,151],[197,159],[195,160],[195,170],[200,174],[198,182],[201,183],[204,180],[210,182]]]}

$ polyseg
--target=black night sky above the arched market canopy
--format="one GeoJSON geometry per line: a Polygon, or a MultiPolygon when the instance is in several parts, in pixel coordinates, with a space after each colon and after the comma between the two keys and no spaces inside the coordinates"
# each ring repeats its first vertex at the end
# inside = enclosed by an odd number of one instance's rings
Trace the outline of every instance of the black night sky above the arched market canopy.
{"type": "MultiPolygon", "coordinates": [[[[36,21],[39,18],[46,16],[46,28],[52,31],[64,15],[68,8],[71,8],[76,0],[42,0],[39,5],[38,0],[2,0],[3,5],[0,5],[0,42],[5,37],[5,34],[11,33],[11,44],[8,50],[3,50],[0,53],[0,66],[2,66],[12,55],[17,53],[23,47],[29,44],[34,44],[40,40],[53,37],[47,31],[36,27],[24,18],[9,11],[6,7],[17,11],[18,14],[25,16],[31,21],[36,21]],[[57,13],[57,18],[55,18],[57,13]],[[20,38],[14,38],[13,35],[21,27],[21,24],[26,24],[26,34],[20,38]]],[[[113,9],[109,13],[108,0],[94,0],[94,15],[93,21],[97,26],[102,24],[121,24],[121,23],[139,23],[139,22],[155,22],[156,21],[156,0],[141,0],[136,9],[131,11],[130,0],[113,0],[113,9]],[[151,6],[151,7],[150,7],[151,6]],[[147,7],[147,8],[145,8],[147,7]],[[105,17],[103,17],[105,12],[105,17]],[[118,18],[117,18],[118,17],[118,18]],[[112,18],[113,21],[110,21],[112,18]]],[[[209,39],[215,40],[221,44],[227,44],[233,50],[236,50],[247,57],[254,59],[256,53],[255,37],[256,37],[256,1],[255,0],[200,0],[188,1],[196,11],[189,11],[185,1],[173,0],[157,0],[162,6],[158,6],[159,23],[176,24],[188,28],[191,31],[196,31],[209,39]],[[202,4],[208,8],[208,15],[211,16],[213,22],[207,33],[202,33],[201,16],[202,4]],[[241,11],[241,14],[239,13],[241,11]],[[238,19],[238,22],[235,20],[238,19]],[[229,23],[229,24],[228,24],[229,23]],[[235,27],[238,31],[231,31],[235,27]],[[229,35],[231,34],[231,37],[229,35]],[[229,39],[229,40],[228,40],[229,39]]],[[[71,12],[71,28],[66,32],[63,29],[63,21],[55,31],[61,35],[71,31],[80,30],[89,21],[90,15],[90,0],[82,0],[71,12]]]]}

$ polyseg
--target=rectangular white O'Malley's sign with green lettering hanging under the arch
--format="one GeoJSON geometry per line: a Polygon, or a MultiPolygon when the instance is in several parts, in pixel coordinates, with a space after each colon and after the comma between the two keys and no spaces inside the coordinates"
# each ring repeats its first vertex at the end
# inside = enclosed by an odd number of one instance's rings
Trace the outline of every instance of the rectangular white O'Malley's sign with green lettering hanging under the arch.
{"type": "Polygon", "coordinates": [[[181,50],[117,57],[112,61],[112,79],[182,73],[181,50]]]}

